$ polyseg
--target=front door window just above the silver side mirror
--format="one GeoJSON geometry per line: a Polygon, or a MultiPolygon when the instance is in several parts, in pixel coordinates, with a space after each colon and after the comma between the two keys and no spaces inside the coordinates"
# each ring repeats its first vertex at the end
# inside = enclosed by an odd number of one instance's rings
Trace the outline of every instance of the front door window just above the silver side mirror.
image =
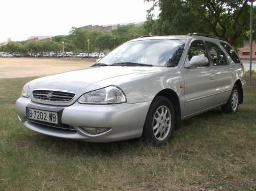
{"type": "Polygon", "coordinates": [[[191,43],[190,48],[188,50],[188,58],[191,60],[193,56],[205,56],[207,55],[207,49],[205,47],[205,44],[201,40],[195,40],[191,43]]]}

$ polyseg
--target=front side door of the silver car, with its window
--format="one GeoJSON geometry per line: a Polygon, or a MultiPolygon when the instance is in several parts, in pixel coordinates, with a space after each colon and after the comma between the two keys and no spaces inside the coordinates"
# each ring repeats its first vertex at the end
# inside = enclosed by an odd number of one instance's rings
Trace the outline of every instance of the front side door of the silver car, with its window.
{"type": "MultiPolygon", "coordinates": [[[[205,56],[208,58],[204,41],[192,41],[188,50],[187,60],[193,56],[205,56]]],[[[203,111],[216,105],[216,80],[214,78],[216,67],[210,65],[200,67],[183,67],[185,80],[185,107],[183,116],[203,111]]]]}

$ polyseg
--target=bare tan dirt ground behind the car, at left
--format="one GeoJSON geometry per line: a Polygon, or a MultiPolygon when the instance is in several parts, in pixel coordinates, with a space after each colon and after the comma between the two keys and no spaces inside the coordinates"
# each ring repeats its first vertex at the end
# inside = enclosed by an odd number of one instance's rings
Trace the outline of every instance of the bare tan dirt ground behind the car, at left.
{"type": "Polygon", "coordinates": [[[84,69],[96,59],[81,58],[0,58],[0,78],[39,77],[84,69]]]}

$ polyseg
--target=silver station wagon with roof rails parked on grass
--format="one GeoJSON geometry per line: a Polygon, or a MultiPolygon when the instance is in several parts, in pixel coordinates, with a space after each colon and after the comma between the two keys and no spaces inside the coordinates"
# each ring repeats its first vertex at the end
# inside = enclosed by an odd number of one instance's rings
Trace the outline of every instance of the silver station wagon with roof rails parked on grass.
{"type": "Polygon", "coordinates": [[[92,67],[28,82],[16,101],[28,129],[60,138],[112,142],[143,137],[163,145],[181,120],[243,102],[244,67],[217,37],[140,37],[92,67]]]}

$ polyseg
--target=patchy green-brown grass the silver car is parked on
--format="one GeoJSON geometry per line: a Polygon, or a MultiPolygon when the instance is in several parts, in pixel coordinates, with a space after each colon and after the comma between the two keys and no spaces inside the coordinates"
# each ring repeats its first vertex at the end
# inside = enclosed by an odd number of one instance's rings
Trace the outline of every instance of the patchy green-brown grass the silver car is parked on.
{"type": "Polygon", "coordinates": [[[0,190],[256,190],[256,80],[237,114],[183,121],[163,147],[86,143],[20,125],[15,100],[33,78],[0,79],[0,190]]]}

